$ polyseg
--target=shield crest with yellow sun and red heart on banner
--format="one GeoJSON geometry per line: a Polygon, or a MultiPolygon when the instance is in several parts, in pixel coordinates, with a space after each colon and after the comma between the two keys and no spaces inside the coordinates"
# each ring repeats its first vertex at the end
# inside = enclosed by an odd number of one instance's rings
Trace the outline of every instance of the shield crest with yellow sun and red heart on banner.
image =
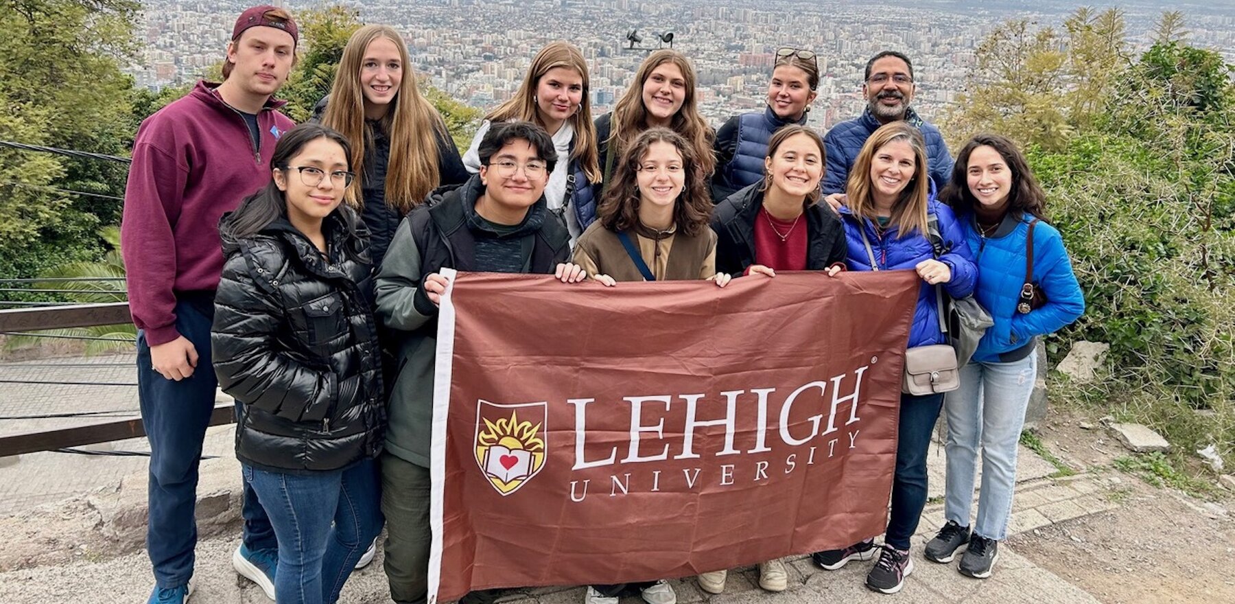
{"type": "Polygon", "coordinates": [[[546,403],[477,401],[475,462],[501,495],[519,490],[545,467],[547,414],[546,403]]]}

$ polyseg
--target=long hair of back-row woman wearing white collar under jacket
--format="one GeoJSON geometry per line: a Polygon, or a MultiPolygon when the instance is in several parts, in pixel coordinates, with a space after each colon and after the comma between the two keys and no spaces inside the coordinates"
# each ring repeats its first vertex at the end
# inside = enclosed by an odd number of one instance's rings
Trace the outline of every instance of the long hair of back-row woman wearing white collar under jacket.
{"type": "Polygon", "coordinates": [[[574,44],[563,41],[545,44],[545,48],[532,58],[532,64],[527,67],[524,82],[519,84],[515,95],[489,111],[484,119],[489,122],[522,120],[545,127],[536,107],[536,86],[540,85],[540,79],[556,67],[573,69],[583,78],[583,100],[579,101],[579,110],[567,120],[574,127],[574,151],[571,153],[571,159],[579,162],[584,174],[588,175],[588,182],[599,183],[600,162],[597,159],[597,126],[592,124],[588,62],[574,44]]]}

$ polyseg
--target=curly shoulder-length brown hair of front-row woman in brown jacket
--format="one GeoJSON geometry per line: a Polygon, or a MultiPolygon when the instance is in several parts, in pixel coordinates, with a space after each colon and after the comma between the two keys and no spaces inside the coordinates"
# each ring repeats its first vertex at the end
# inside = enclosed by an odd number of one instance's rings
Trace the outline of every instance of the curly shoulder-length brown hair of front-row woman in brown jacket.
{"type": "MultiPolygon", "coordinates": [[[[638,224],[638,167],[648,148],[657,142],[667,142],[682,156],[685,182],[682,194],[673,204],[673,222],[678,232],[695,237],[709,229],[711,198],[708,194],[706,174],[700,167],[694,147],[682,135],[669,128],[647,128],[622,152],[614,183],[605,188],[604,198],[597,208],[597,219],[610,231],[621,232],[638,224]]],[[[709,156],[711,151],[709,149],[709,156]]]]}

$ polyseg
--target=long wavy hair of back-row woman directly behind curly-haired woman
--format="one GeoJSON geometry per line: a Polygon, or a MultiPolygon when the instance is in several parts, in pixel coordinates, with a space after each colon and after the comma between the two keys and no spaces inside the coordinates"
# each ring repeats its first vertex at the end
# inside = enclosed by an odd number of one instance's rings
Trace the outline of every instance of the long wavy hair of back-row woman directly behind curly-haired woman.
{"type": "MultiPolygon", "coordinates": [[[[640,132],[647,128],[647,107],[643,106],[643,83],[652,75],[652,69],[663,63],[673,63],[682,70],[682,79],[685,80],[685,96],[682,107],[673,115],[669,128],[682,135],[694,147],[694,156],[704,174],[711,174],[716,169],[716,158],[711,153],[713,140],[716,135],[708,126],[708,121],[699,114],[699,101],[695,94],[698,78],[694,67],[684,54],[669,48],[651,52],[643,63],[635,72],[635,79],[622,93],[621,99],[614,105],[610,121],[609,153],[621,153],[640,132]]],[[[606,187],[608,189],[608,187],[606,187]]]]}

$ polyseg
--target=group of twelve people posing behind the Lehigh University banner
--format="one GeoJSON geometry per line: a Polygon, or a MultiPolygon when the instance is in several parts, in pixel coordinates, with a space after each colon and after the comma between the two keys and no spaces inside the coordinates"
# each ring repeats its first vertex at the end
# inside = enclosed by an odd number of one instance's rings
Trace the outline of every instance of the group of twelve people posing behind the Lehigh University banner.
{"type": "MultiPolygon", "coordinates": [[[[391,599],[426,602],[443,268],[606,287],[913,269],[923,284],[909,347],[947,341],[939,296],[972,295],[994,325],[961,387],[902,395],[882,545],[872,536],[813,560],[836,569],[878,553],[867,585],[902,588],[942,410],[947,525],[925,557],[947,563],[966,547],[960,572],[990,574],[1035,341],[1084,305],[1024,154],[981,135],[953,163],[910,109],[908,57],[872,58],[867,110],[820,137],[805,126],[819,84],[809,49],[779,49],[767,107],[714,132],[682,53],[651,52],[613,112],[593,119],[587,62],[553,42],[461,156],[416,88],[405,42],[380,25],[352,35],[330,95],[294,125],[273,95],[298,37],[285,10],[246,10],[224,82],[198,83],[135,141],[122,250],[152,452],[151,603],[191,592],[198,462],[216,387],[236,399],[237,572],[280,604],[333,603],[385,526],[391,599]]],[[[782,562],[758,568],[761,587],[787,588],[782,562]]],[[[716,569],[698,581],[720,593],[725,578],[716,569]]],[[[627,590],[676,602],[658,581],[592,585],[587,604],[616,604],[627,590]]]]}

